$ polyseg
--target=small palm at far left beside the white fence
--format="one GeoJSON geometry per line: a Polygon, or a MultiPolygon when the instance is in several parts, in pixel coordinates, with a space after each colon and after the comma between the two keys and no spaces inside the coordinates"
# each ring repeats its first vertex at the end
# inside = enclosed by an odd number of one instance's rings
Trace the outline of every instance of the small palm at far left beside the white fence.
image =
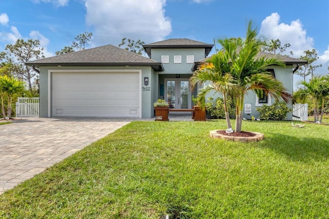
{"type": "Polygon", "coordinates": [[[0,79],[0,87],[2,87],[2,92],[6,93],[8,96],[8,110],[7,110],[7,118],[11,118],[12,111],[12,99],[13,96],[17,93],[24,92],[24,82],[19,81],[15,78],[10,78],[8,76],[3,76],[0,79]]]}

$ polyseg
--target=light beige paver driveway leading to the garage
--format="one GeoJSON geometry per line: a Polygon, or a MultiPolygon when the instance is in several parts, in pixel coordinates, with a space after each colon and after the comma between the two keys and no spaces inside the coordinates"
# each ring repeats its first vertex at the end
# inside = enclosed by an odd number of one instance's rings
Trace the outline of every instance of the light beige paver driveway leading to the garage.
{"type": "Polygon", "coordinates": [[[0,194],[130,121],[23,118],[13,124],[0,125],[0,194]]]}

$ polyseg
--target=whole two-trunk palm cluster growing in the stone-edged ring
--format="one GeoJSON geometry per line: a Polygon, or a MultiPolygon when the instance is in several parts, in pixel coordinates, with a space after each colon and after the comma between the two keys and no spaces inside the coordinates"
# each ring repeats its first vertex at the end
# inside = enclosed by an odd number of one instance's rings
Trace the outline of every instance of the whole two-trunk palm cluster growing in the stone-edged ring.
{"type": "MultiPolygon", "coordinates": [[[[266,71],[267,66],[284,66],[284,63],[272,54],[258,57],[261,47],[267,41],[263,36],[258,36],[258,29],[253,28],[250,21],[244,40],[241,38],[217,39],[223,48],[191,78],[192,85],[207,80],[212,82],[211,86],[206,86],[201,90],[198,94],[200,98],[204,99],[205,94],[211,89],[221,92],[224,101],[227,95],[235,98],[235,132],[241,132],[244,97],[249,90],[255,92],[259,97],[269,95],[276,100],[282,98],[286,102],[291,99],[291,95],[287,93],[282,82],[266,71]]],[[[225,108],[225,114],[228,115],[227,108],[225,108]]],[[[228,128],[230,128],[229,117],[226,116],[226,119],[228,128]]]]}

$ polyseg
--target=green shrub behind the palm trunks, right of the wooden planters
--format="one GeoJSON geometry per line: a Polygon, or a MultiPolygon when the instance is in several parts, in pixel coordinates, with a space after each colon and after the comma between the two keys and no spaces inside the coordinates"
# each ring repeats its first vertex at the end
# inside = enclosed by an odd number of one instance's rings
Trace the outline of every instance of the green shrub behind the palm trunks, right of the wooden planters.
{"type": "MultiPolygon", "coordinates": [[[[206,112],[210,114],[212,119],[225,119],[224,100],[223,98],[217,98],[213,101],[213,97],[209,97],[206,103],[206,112]]],[[[230,118],[235,118],[235,103],[231,99],[227,100],[227,107],[230,114],[230,118]]]]}

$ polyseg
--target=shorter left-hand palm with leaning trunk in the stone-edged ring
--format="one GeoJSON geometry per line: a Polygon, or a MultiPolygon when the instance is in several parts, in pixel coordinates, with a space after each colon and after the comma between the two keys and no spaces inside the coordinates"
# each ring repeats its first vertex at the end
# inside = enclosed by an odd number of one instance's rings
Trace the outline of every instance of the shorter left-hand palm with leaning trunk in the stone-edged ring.
{"type": "Polygon", "coordinates": [[[232,125],[227,106],[227,97],[232,96],[235,92],[236,84],[230,73],[230,62],[223,51],[214,54],[207,62],[194,72],[190,79],[191,87],[197,84],[210,82],[198,93],[198,102],[205,103],[206,95],[211,91],[220,92],[223,95],[225,118],[227,124],[227,132],[231,132],[232,125]]]}

